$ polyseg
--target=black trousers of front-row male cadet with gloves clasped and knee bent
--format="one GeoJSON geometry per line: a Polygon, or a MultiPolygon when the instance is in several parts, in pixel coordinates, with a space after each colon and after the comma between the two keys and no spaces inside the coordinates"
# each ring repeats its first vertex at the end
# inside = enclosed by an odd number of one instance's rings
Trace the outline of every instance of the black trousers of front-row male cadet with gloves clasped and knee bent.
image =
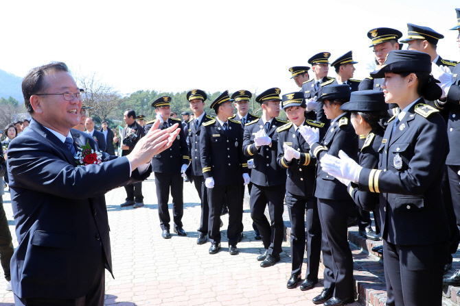
{"type": "Polygon", "coordinates": [[[284,235],[284,194],[286,192],[285,185],[264,187],[253,184],[251,188],[251,218],[259,229],[264,242],[264,248],[268,250],[268,254],[279,256],[283,251],[281,244],[283,243],[284,235]],[[270,213],[271,224],[268,222],[264,212],[268,204],[268,212],[270,213]]]}

